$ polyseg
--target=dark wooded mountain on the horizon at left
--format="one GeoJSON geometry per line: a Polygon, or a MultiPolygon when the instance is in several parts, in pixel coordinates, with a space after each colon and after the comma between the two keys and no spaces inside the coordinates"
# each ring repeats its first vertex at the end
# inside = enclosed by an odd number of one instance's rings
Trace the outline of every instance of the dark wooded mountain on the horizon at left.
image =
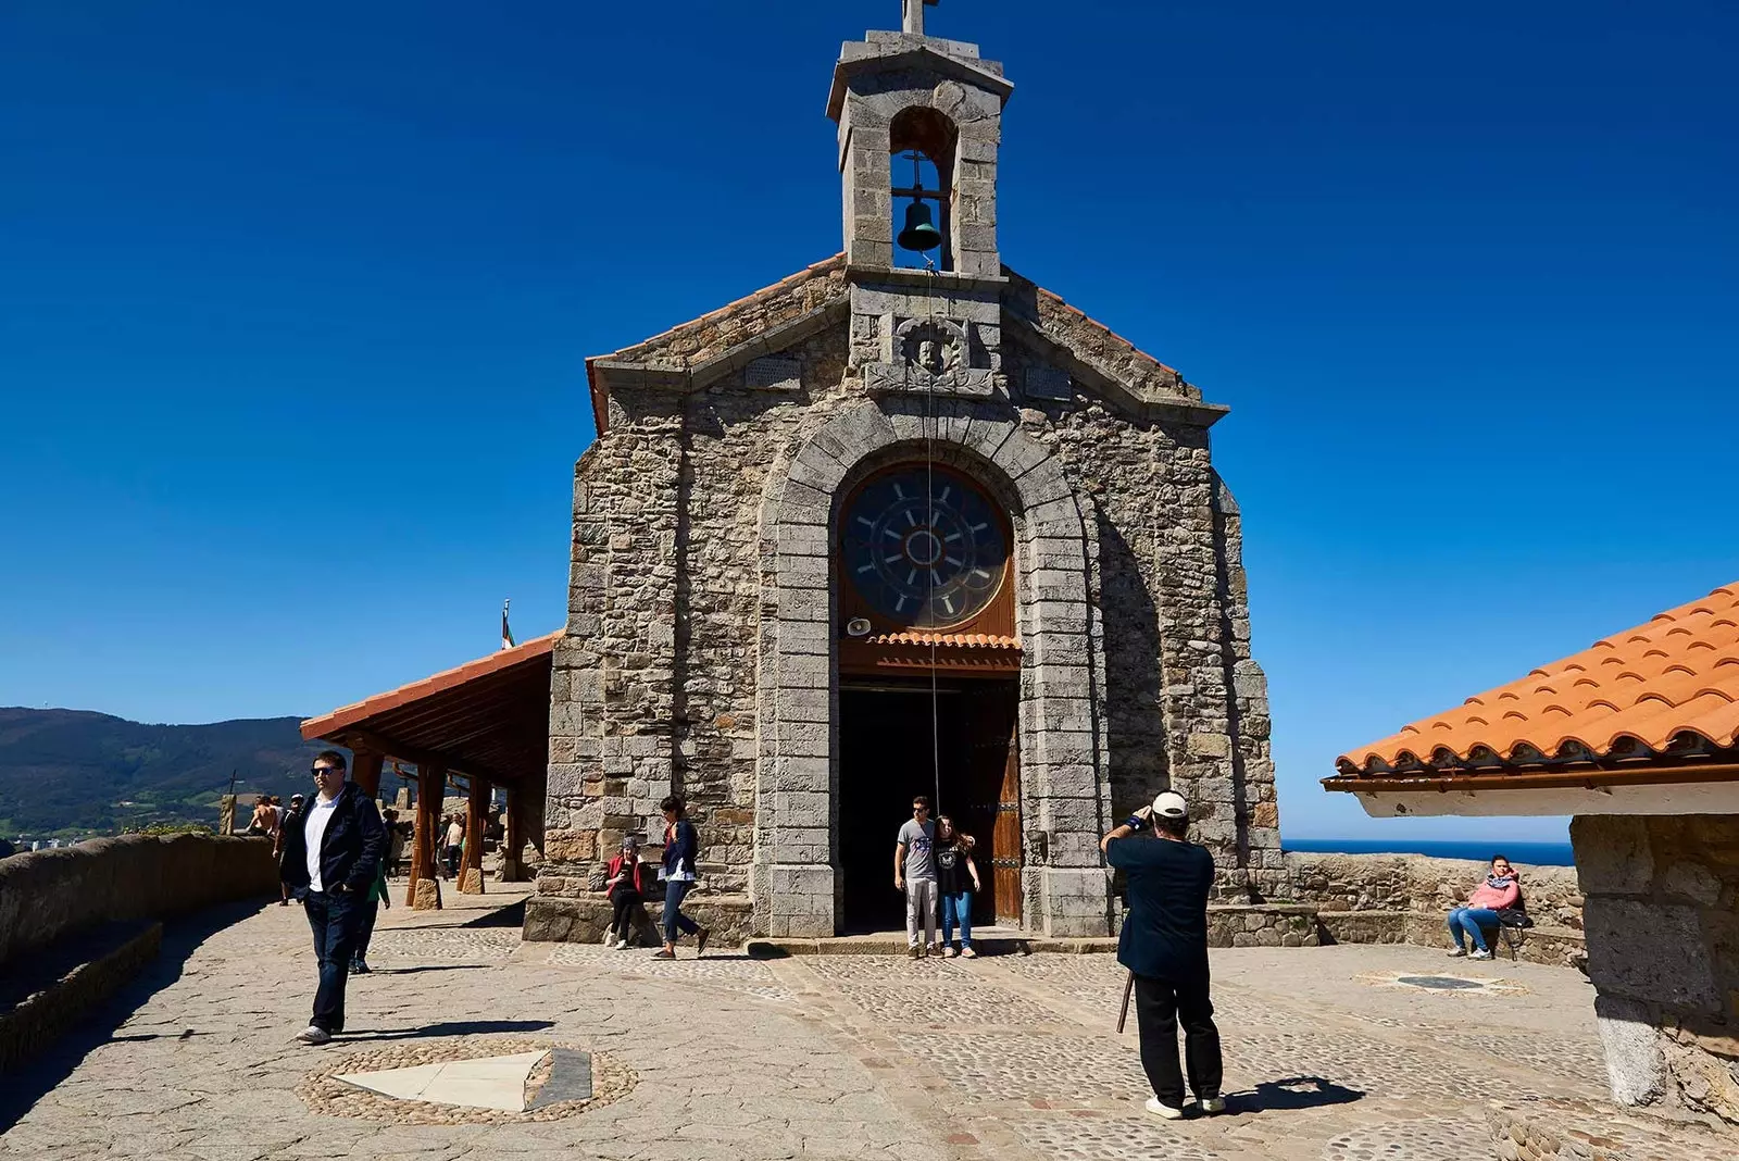
{"type": "MultiPolygon", "coordinates": [[[[217,824],[217,798],[308,787],[322,746],[301,718],[141,725],[78,709],[0,707],[0,838],[217,824]]],[[[247,801],[238,810],[247,820],[247,801]]]]}

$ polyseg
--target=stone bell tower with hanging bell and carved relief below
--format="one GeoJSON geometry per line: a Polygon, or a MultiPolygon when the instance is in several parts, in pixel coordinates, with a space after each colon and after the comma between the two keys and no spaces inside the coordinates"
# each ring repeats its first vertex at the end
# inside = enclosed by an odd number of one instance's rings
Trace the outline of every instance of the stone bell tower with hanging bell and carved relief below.
{"type": "Polygon", "coordinates": [[[876,395],[988,396],[1003,386],[996,149],[1014,85],[977,45],[925,35],[937,2],[901,0],[901,31],[847,42],[833,70],[850,362],[876,395]]]}

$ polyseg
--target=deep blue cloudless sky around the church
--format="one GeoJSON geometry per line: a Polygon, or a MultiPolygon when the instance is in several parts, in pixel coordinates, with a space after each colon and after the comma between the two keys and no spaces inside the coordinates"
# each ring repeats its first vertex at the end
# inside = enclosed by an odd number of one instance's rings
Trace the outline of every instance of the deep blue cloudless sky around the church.
{"type": "MultiPolygon", "coordinates": [[[[310,714],[558,627],[584,356],[838,249],[897,10],[0,7],[0,704],[310,714]]],[[[1739,577],[1730,5],[930,30],[1017,85],[1005,261],[1233,407],[1289,834],[1395,834],[1341,749],[1739,577]]]]}

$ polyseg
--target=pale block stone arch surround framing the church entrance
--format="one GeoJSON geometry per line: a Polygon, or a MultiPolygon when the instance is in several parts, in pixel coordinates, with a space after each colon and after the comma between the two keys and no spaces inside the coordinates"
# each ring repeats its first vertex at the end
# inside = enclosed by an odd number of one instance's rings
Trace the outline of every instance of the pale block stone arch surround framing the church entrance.
{"type": "MultiPolygon", "coordinates": [[[[772,937],[826,937],[843,926],[835,516],[870,473],[930,448],[939,462],[969,469],[1010,520],[1021,645],[1021,925],[1052,937],[1104,935],[1109,893],[1096,846],[1109,813],[1099,718],[1104,647],[1089,598],[1097,549],[1082,501],[1005,405],[925,403],[883,398],[842,407],[769,474],[760,523],[753,926],[772,937]]],[[[890,893],[892,839],[889,827],[890,893]]]]}

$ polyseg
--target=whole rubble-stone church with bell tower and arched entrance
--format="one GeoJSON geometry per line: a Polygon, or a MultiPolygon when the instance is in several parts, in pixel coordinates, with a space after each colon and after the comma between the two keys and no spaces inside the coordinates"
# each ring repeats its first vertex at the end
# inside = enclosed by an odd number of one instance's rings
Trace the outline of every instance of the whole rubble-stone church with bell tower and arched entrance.
{"type": "Polygon", "coordinates": [[[588,360],[534,912],[670,793],[743,937],[901,926],[920,793],[981,923],[1115,932],[1097,839],[1167,786],[1223,897],[1282,878],[1228,408],[1005,264],[1014,85],[934,2],[833,70],[843,252],[588,360]]]}

